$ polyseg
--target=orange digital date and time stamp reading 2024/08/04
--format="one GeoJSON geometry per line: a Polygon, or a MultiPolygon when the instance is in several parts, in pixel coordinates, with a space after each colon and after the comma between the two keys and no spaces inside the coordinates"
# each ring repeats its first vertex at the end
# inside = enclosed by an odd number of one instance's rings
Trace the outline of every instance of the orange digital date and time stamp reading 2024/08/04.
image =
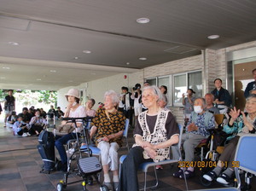
{"type": "MultiPolygon", "coordinates": [[[[229,162],[224,161],[221,162],[223,167],[228,167],[229,162]]],[[[189,168],[189,167],[193,167],[193,168],[207,168],[207,167],[216,167],[218,164],[217,161],[178,161],[178,168],[189,168]]],[[[232,167],[239,167],[240,163],[239,161],[232,161],[232,167]]]]}

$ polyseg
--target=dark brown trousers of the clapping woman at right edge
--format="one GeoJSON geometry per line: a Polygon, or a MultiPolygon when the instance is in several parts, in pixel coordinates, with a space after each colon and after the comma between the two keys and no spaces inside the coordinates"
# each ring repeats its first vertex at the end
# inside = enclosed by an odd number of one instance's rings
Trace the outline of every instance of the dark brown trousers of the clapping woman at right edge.
{"type": "Polygon", "coordinates": [[[235,154],[236,154],[236,146],[237,143],[240,139],[240,136],[235,136],[229,144],[227,144],[224,148],[224,152],[220,155],[219,160],[222,162],[228,162],[228,167],[233,168],[232,162],[235,159],[235,154]]]}

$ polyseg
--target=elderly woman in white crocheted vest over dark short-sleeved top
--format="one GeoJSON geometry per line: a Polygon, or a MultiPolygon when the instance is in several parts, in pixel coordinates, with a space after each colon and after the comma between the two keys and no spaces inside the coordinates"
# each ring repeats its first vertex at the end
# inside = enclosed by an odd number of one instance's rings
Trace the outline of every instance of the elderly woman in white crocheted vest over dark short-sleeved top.
{"type": "Polygon", "coordinates": [[[148,111],[140,113],[134,130],[136,144],[128,153],[119,177],[119,191],[138,190],[137,170],[143,162],[169,159],[169,149],[177,144],[179,129],[169,110],[160,108],[162,94],[156,86],[143,89],[143,104],[148,111]]]}

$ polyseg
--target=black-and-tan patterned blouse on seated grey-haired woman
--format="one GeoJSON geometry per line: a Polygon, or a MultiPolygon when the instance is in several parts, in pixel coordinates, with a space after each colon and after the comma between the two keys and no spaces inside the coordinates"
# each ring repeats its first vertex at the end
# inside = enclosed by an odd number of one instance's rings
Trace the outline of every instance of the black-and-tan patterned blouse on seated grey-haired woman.
{"type": "MultiPolygon", "coordinates": [[[[99,108],[96,111],[95,118],[92,119],[91,125],[95,125],[98,129],[96,132],[96,140],[104,136],[118,133],[120,130],[125,130],[125,116],[123,113],[117,111],[115,113],[108,113],[108,115],[109,119],[105,108],[99,108]]],[[[122,136],[111,139],[109,142],[117,142],[119,147],[121,147],[122,136]]],[[[97,143],[98,142],[96,142],[96,144],[97,143]]]]}

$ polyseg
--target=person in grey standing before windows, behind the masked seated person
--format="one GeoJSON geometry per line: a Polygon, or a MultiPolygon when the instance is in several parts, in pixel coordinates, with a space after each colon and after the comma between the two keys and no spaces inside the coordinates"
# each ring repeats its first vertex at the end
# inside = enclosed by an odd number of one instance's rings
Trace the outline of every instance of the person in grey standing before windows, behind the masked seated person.
{"type": "Polygon", "coordinates": [[[189,122],[190,114],[194,111],[194,101],[195,97],[193,97],[195,91],[192,89],[188,89],[186,94],[183,94],[183,106],[184,106],[184,125],[186,126],[189,122]],[[186,97],[187,96],[187,97],[186,97]]]}

